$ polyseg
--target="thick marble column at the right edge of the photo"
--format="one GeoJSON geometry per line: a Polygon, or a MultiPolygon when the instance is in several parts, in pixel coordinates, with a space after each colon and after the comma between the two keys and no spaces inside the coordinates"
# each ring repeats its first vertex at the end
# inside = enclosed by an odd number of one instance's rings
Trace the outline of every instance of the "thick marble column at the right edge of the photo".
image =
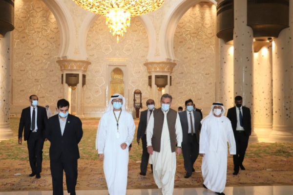
{"type": "MultiPolygon", "coordinates": [[[[292,23],[293,3],[290,1],[289,23],[292,23]]],[[[291,28],[282,30],[272,48],[272,132],[273,142],[293,141],[293,56],[291,28]]]]}

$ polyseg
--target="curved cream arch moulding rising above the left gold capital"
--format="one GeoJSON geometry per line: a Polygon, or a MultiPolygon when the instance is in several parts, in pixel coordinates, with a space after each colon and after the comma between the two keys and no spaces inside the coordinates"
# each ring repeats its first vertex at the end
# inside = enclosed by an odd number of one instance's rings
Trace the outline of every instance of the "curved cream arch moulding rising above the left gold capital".
{"type": "Polygon", "coordinates": [[[70,17],[71,14],[63,1],[42,0],[55,16],[60,29],[59,59],[69,59],[74,54],[75,48],[75,25],[70,17]]]}

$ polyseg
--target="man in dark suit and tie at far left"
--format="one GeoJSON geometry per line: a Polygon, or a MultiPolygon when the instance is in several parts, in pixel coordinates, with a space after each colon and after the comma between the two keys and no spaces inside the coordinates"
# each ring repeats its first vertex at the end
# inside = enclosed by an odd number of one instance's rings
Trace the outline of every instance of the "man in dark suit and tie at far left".
{"type": "Polygon", "coordinates": [[[19,126],[19,140],[22,144],[22,132],[24,141],[27,141],[29,164],[32,169],[30,177],[41,178],[42,172],[42,149],[45,139],[45,127],[47,124],[46,108],[38,106],[38,96],[29,96],[31,106],[24,108],[21,112],[19,126]]]}

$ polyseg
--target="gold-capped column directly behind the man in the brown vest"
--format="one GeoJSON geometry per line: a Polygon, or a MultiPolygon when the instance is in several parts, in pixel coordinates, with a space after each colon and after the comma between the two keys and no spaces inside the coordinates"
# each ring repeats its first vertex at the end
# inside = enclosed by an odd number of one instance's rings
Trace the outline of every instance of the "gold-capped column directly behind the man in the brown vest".
{"type": "MultiPolygon", "coordinates": [[[[157,102],[159,103],[161,96],[158,97],[158,95],[161,94],[161,91],[159,92],[157,89],[157,86],[155,85],[155,76],[156,75],[167,75],[167,85],[165,86],[164,93],[170,93],[170,74],[172,73],[173,68],[176,65],[176,63],[173,63],[173,62],[147,62],[144,65],[147,68],[148,74],[151,75],[152,99],[157,100],[157,102]]],[[[158,107],[160,107],[160,104],[157,105],[157,108],[158,107]]]]}

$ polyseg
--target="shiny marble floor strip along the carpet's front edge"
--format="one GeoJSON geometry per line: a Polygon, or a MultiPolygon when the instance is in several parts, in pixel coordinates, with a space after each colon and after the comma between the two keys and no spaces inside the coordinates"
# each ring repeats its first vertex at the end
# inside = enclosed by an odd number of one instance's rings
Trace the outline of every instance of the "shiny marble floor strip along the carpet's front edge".
{"type": "MultiPolygon", "coordinates": [[[[157,195],[157,189],[127,190],[126,195],[157,195]]],[[[226,187],[226,195],[292,195],[293,186],[247,186],[226,187]]],[[[106,190],[81,190],[77,195],[108,195],[106,190]]],[[[0,192],[0,195],[52,195],[52,191],[30,191],[30,192],[0,192]]],[[[64,195],[67,194],[64,191],[64,195]]],[[[216,195],[205,188],[176,188],[173,195],[216,195]]]]}

